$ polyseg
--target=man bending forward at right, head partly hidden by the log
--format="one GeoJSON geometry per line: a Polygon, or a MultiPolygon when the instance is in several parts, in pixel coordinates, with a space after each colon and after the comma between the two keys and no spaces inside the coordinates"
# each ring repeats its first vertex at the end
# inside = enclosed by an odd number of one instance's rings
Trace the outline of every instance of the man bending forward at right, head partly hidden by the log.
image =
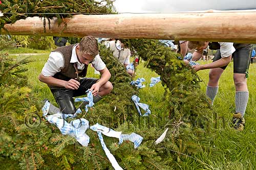
{"type": "MultiPolygon", "coordinates": [[[[188,41],[189,50],[196,50],[193,53],[193,61],[202,57],[203,50],[207,48],[208,41],[188,41]]],[[[214,103],[215,96],[219,89],[219,79],[225,70],[231,58],[233,58],[233,80],[236,87],[236,113],[233,114],[234,129],[242,131],[245,127],[244,114],[247,107],[249,92],[246,78],[250,64],[252,44],[241,44],[233,42],[212,42],[209,45],[210,50],[217,50],[212,63],[204,65],[194,65],[196,71],[210,69],[209,82],[206,88],[206,95],[214,103]]],[[[186,62],[186,61],[185,61],[186,62]]]]}

